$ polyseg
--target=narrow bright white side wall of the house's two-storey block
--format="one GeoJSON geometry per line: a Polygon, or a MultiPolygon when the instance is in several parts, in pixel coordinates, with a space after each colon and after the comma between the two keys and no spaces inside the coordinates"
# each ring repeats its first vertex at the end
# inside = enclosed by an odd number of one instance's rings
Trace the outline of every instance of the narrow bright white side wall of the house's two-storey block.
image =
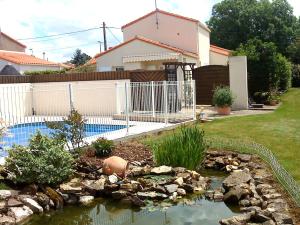
{"type": "Polygon", "coordinates": [[[198,26],[198,54],[201,66],[209,65],[210,33],[198,26]]]}

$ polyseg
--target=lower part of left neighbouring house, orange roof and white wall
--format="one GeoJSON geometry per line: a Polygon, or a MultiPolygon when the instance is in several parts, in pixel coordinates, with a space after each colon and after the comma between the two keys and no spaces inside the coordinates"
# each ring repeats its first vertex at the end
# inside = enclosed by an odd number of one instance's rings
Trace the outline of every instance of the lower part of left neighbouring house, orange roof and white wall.
{"type": "Polygon", "coordinates": [[[25,71],[61,70],[64,68],[64,66],[59,63],[27,55],[24,52],[0,50],[0,71],[6,65],[13,66],[21,74],[25,71]]]}

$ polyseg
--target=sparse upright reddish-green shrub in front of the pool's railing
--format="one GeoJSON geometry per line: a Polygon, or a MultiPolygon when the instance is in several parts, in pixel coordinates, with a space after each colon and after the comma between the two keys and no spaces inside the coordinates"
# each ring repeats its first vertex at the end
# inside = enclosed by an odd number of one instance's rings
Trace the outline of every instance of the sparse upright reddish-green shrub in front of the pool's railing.
{"type": "Polygon", "coordinates": [[[71,151],[85,144],[83,141],[85,122],[86,120],[82,115],[72,109],[70,115],[64,118],[63,121],[47,121],[46,125],[53,129],[51,136],[58,141],[64,142],[71,151]]]}

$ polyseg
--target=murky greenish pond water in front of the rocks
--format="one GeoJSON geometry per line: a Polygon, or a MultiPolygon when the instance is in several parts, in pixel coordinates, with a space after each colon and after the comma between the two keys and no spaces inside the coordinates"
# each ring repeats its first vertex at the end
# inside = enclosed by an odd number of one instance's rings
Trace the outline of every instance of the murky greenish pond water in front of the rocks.
{"type": "MultiPolygon", "coordinates": [[[[202,172],[212,179],[211,188],[221,185],[220,173],[202,172]]],[[[238,211],[223,202],[190,196],[176,205],[163,202],[142,209],[129,208],[118,202],[98,199],[92,205],[67,206],[61,211],[35,215],[26,225],[218,225],[219,220],[236,215],[238,211]]]]}

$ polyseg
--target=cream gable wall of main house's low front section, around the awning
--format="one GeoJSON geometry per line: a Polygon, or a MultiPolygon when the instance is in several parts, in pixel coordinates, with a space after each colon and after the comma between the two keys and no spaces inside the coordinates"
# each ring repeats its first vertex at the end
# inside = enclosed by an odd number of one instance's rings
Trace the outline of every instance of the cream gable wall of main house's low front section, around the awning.
{"type": "MultiPolygon", "coordinates": [[[[140,40],[134,40],[97,58],[97,71],[110,71],[114,67],[118,66],[124,66],[125,70],[159,69],[162,65],[162,62],[158,61],[149,61],[147,63],[135,62],[123,64],[123,56],[143,55],[150,53],[174,53],[174,51],[153,44],[149,44],[140,40]]],[[[197,59],[194,59],[192,57],[183,56],[183,58],[185,58],[187,62],[197,62],[197,59]]]]}

